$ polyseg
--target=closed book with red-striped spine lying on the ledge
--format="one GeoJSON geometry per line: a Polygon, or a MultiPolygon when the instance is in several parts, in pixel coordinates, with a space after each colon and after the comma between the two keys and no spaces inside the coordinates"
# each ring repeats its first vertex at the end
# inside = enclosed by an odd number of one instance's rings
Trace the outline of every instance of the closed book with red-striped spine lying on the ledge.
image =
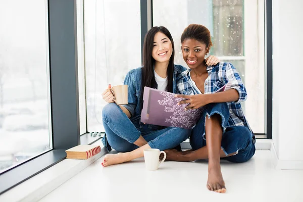
{"type": "Polygon", "coordinates": [[[78,145],[67,149],[65,152],[67,159],[88,159],[100,151],[101,147],[99,145],[78,145]]]}

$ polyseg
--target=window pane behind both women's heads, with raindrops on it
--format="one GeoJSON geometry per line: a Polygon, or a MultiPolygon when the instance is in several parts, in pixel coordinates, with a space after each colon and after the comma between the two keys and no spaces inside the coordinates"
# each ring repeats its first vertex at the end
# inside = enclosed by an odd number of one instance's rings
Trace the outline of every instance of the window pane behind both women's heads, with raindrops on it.
{"type": "Polygon", "coordinates": [[[231,62],[243,79],[248,99],[242,107],[255,133],[265,133],[264,12],[263,0],[153,1],[153,26],[170,30],[176,64],[187,67],[181,52],[183,30],[192,23],[210,30],[214,45],[211,55],[231,62]]]}

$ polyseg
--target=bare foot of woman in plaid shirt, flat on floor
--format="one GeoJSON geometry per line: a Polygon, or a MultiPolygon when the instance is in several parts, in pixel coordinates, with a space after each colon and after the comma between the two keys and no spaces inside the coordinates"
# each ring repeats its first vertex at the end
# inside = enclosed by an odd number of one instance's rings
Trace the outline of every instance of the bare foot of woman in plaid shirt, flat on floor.
{"type": "Polygon", "coordinates": [[[215,191],[215,192],[219,192],[219,193],[226,192],[225,182],[222,177],[220,165],[209,168],[207,188],[210,191],[215,191]]]}

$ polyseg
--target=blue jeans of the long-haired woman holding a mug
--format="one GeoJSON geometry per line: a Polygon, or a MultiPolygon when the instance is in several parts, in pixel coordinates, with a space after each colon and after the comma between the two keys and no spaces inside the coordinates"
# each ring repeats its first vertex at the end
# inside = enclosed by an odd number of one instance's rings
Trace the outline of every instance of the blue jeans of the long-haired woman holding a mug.
{"type": "Polygon", "coordinates": [[[151,148],[165,150],[179,145],[191,133],[190,129],[167,127],[157,130],[157,128],[145,127],[144,124],[142,126],[138,120],[132,122],[121,108],[114,103],[110,103],[103,108],[102,116],[106,132],[102,142],[109,151],[112,149],[111,147],[120,152],[138,148],[133,142],[140,135],[151,148]]]}

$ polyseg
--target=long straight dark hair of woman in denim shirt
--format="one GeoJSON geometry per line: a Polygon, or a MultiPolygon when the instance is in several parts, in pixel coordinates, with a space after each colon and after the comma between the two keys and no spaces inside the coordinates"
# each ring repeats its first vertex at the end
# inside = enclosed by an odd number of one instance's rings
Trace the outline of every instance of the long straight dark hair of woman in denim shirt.
{"type": "Polygon", "coordinates": [[[156,80],[154,74],[155,59],[153,58],[152,53],[154,47],[154,38],[158,32],[165,34],[169,38],[173,46],[172,47],[173,53],[172,56],[170,57],[167,67],[167,87],[166,87],[166,91],[173,92],[173,73],[174,73],[174,57],[175,57],[174,40],[167,28],[163,26],[153,27],[148,30],[148,32],[145,34],[144,37],[141,98],[143,96],[144,86],[150,88],[156,87],[156,80]]]}

